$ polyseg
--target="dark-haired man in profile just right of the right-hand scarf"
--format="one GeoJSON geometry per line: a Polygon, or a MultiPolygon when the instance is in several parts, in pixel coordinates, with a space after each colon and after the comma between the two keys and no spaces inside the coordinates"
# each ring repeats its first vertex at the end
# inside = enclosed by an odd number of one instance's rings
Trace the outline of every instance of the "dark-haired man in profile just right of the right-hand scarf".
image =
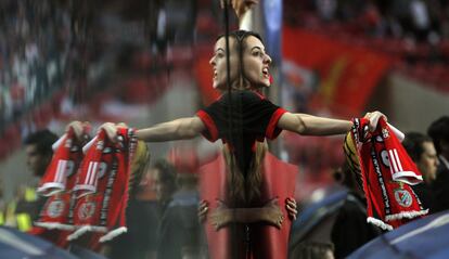
{"type": "Polygon", "coordinates": [[[402,141],[402,145],[416,164],[424,180],[424,182],[413,185],[413,191],[418,194],[423,207],[428,208],[432,213],[435,211],[435,194],[432,185],[439,165],[434,143],[425,134],[409,132],[402,141]]]}

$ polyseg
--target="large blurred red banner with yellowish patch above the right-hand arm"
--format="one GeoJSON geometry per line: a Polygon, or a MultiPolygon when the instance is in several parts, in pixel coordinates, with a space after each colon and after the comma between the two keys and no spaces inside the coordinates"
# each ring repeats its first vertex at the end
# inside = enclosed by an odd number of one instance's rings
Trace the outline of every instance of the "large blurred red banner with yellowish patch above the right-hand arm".
{"type": "Polygon", "coordinates": [[[283,57],[319,76],[311,108],[338,116],[358,116],[387,73],[392,59],[300,28],[283,28],[283,57]]]}

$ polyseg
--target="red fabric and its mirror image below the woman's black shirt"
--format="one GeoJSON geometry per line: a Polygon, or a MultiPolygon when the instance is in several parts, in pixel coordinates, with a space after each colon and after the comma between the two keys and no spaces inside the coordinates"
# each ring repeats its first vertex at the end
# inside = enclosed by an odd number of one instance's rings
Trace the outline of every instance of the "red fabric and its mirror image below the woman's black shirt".
{"type": "MultiPolygon", "coordinates": [[[[285,209],[285,199],[293,197],[295,192],[295,177],[297,167],[283,163],[277,157],[267,153],[264,160],[262,184],[260,205],[278,198],[279,206],[285,219],[288,219],[285,209]]],[[[226,163],[222,155],[214,161],[203,166],[200,169],[200,192],[202,199],[209,204],[209,215],[217,208],[217,200],[227,203],[227,173],[226,163]]],[[[287,245],[290,235],[290,220],[284,220],[281,229],[271,225],[254,223],[249,224],[252,238],[252,258],[287,258],[287,245]]],[[[208,243],[210,258],[228,259],[233,258],[231,244],[240,242],[232,239],[229,228],[222,228],[218,231],[211,225],[208,219],[205,222],[205,230],[208,243]]],[[[241,251],[241,250],[239,250],[241,251]]],[[[236,255],[238,258],[245,258],[244,251],[236,255]]]]}

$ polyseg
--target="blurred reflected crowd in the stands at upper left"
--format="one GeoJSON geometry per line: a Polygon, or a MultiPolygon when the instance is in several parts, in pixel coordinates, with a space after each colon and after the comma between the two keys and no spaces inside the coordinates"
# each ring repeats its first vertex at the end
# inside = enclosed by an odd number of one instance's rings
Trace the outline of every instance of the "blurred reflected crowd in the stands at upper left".
{"type": "MultiPolygon", "coordinates": [[[[143,67],[140,73],[150,72],[149,76],[155,66],[156,73],[166,70],[164,61],[149,67],[145,54],[151,49],[161,52],[166,44],[166,36],[157,36],[161,2],[136,1],[129,10],[119,2],[103,4],[86,0],[0,3],[0,138],[10,140],[0,148],[0,157],[54,118],[82,112],[94,117],[99,106],[92,104],[94,94],[116,87],[111,83],[114,67],[121,74],[143,67]],[[132,17],[136,10],[140,13],[132,17]],[[145,40],[151,44],[146,47],[145,40]]],[[[125,91],[118,94],[126,99],[125,91]]]]}

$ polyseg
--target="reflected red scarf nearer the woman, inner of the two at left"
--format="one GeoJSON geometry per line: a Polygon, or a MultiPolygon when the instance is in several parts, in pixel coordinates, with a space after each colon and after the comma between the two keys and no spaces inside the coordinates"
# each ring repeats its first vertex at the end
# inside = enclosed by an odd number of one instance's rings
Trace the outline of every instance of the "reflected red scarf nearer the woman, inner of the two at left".
{"type": "Polygon", "coordinates": [[[73,224],[68,236],[76,239],[87,232],[103,233],[106,242],[125,233],[131,160],[137,139],[132,129],[119,129],[117,143],[104,130],[85,146],[86,156],[74,187],[76,197],[73,224]]]}

